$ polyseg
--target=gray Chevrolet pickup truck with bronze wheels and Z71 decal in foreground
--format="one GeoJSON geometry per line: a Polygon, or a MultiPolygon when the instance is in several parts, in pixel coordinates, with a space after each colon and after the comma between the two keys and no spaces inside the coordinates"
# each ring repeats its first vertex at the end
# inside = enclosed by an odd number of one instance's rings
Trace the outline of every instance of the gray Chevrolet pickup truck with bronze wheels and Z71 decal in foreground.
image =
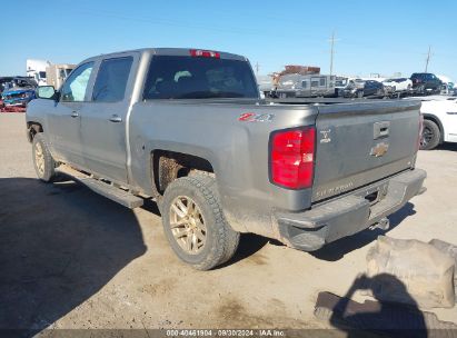
{"type": "Polygon", "coordinates": [[[155,199],[177,256],[230,259],[240,232],[304,251],[423,191],[420,102],[274,105],[245,57],[142,49],[82,61],[27,109],[42,181],[59,171],[129,208],[155,199]]]}

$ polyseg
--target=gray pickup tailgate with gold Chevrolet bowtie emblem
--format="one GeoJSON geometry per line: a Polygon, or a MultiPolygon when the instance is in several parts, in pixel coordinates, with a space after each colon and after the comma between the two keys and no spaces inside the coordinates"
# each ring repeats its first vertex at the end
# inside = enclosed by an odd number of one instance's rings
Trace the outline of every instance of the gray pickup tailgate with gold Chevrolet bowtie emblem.
{"type": "Polygon", "coordinates": [[[320,106],[312,202],[414,167],[419,101],[320,106]]]}

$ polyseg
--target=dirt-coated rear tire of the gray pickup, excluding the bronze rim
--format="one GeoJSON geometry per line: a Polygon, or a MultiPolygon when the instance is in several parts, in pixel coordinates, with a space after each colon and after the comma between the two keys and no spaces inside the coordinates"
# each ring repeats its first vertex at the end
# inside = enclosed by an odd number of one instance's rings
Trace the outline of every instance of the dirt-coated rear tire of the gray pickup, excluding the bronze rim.
{"type": "Polygon", "coordinates": [[[239,232],[231,229],[223,217],[216,180],[210,176],[182,177],[166,189],[161,202],[165,235],[175,254],[198,270],[209,270],[228,261],[236,252],[239,232]],[[170,212],[177,197],[189,197],[199,207],[205,219],[206,242],[201,252],[186,252],[175,239],[170,226],[170,212]]]}

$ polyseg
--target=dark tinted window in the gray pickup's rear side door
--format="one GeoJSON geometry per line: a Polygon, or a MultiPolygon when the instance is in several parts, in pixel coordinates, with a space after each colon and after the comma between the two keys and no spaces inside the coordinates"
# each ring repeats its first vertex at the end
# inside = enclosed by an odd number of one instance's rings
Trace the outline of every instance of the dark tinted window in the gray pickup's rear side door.
{"type": "Polygon", "coordinates": [[[93,86],[92,101],[122,101],[132,62],[132,57],[103,60],[93,86]]]}

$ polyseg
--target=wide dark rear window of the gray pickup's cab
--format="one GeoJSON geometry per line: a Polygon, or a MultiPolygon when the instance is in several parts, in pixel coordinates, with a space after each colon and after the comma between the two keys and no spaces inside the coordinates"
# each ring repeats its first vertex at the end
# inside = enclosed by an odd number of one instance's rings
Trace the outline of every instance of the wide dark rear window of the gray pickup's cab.
{"type": "Polygon", "coordinates": [[[145,87],[145,99],[258,98],[246,61],[156,56],[145,87]]]}

